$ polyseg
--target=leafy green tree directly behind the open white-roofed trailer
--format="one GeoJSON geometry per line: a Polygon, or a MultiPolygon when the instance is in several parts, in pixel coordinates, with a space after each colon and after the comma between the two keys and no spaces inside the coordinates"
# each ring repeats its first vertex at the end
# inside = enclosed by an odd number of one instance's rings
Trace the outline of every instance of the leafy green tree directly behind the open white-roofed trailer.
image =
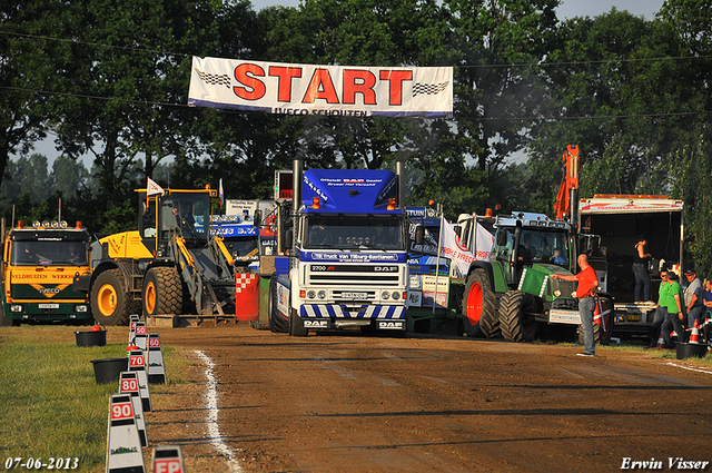
{"type": "Polygon", "coordinates": [[[674,53],[674,39],[661,26],[614,8],[564,22],[556,45],[544,68],[547,100],[530,132],[540,206],[553,205],[567,145],[582,150],[582,197],[604,190],[662,193],[664,184],[654,178],[674,129],[664,115],[679,102],[659,92],[670,89],[665,82],[680,71],[657,58],[674,53]]]}

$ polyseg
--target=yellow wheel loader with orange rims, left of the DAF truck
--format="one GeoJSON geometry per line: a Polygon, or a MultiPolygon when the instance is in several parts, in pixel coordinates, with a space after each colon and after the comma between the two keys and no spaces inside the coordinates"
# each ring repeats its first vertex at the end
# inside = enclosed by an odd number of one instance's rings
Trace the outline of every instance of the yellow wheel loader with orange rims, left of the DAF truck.
{"type": "Polygon", "coordinates": [[[75,289],[89,294],[95,319],[126,325],[140,313],[235,317],[235,274],[241,269],[210,231],[217,190],[137,191],[138,230],[96,242],[91,273],[75,278],[75,289]]]}

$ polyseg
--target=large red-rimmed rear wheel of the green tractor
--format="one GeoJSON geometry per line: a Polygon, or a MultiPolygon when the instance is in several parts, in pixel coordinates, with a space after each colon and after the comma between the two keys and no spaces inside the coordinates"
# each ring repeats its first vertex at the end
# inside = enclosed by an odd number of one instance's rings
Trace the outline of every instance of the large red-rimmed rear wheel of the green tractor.
{"type": "Polygon", "coordinates": [[[475,269],[467,277],[463,295],[463,324],[468,336],[493,338],[500,335],[500,321],[495,311],[494,290],[487,275],[475,269]]]}

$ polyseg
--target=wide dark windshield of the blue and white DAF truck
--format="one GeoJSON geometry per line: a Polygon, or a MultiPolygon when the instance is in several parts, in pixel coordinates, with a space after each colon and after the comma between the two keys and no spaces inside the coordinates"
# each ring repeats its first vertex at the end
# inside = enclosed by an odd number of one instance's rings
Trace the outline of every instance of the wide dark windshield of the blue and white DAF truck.
{"type": "Polygon", "coordinates": [[[394,217],[308,217],[304,247],[404,250],[404,224],[403,218],[394,217]]]}

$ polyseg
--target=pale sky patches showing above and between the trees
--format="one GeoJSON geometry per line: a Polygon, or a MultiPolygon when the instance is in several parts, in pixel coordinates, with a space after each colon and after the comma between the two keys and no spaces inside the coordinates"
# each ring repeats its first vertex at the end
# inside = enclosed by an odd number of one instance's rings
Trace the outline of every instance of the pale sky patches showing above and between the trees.
{"type": "MultiPolygon", "coordinates": [[[[556,14],[560,20],[571,19],[574,17],[595,17],[599,14],[607,13],[613,7],[616,10],[627,10],[636,17],[644,17],[646,20],[652,20],[655,13],[662,7],[664,0],[563,0],[556,10],[556,14]]],[[[299,0],[251,0],[255,10],[260,10],[265,7],[285,6],[285,7],[298,7],[299,0]]],[[[39,152],[47,156],[49,166],[52,166],[55,158],[58,156],[58,151],[55,149],[53,136],[48,137],[41,142],[36,145],[36,149],[32,152],[39,152]]],[[[11,156],[11,159],[18,157],[11,156]]],[[[85,166],[91,167],[91,160],[89,157],[83,157],[85,166]]]]}

